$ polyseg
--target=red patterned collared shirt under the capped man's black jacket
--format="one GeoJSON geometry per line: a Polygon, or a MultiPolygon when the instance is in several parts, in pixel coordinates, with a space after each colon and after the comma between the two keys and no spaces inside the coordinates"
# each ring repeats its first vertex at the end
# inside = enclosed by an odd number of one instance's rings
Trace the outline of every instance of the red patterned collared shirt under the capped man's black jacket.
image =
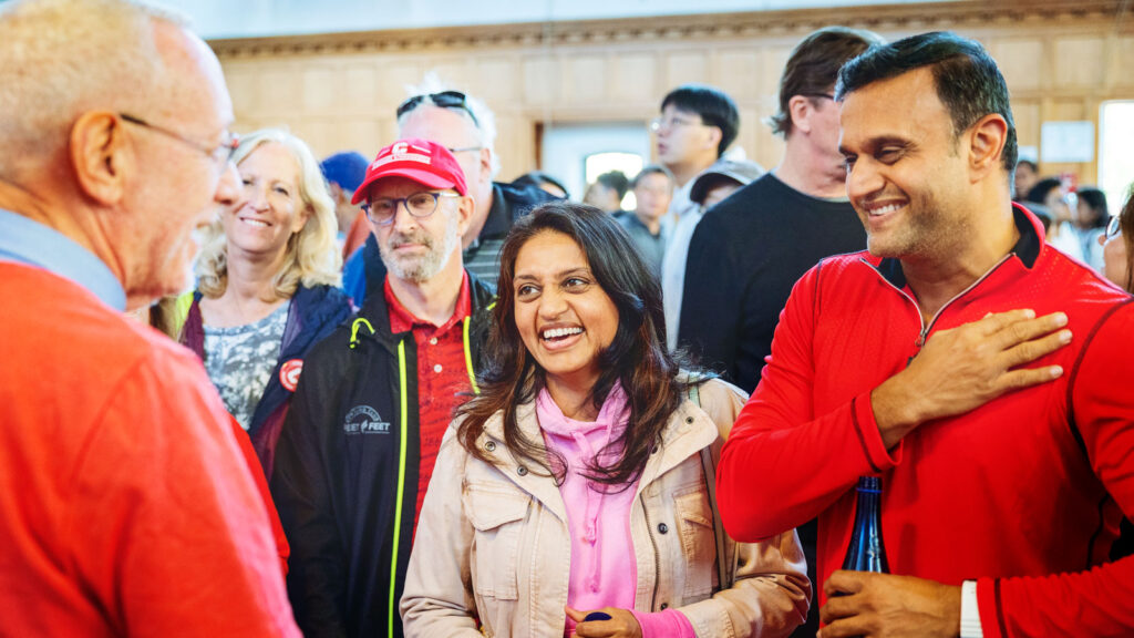
{"type": "Polygon", "coordinates": [[[460,283],[457,308],[441,326],[414,317],[393,296],[390,279],[386,279],[386,304],[390,309],[390,330],[413,331],[417,344],[417,411],[421,438],[421,464],[417,469],[417,506],[414,509],[414,532],[422,512],[425,488],[433,476],[441,438],[452,420],[452,411],[465,402],[460,393],[472,389],[465,361],[464,320],[472,313],[468,274],[460,283]]]}

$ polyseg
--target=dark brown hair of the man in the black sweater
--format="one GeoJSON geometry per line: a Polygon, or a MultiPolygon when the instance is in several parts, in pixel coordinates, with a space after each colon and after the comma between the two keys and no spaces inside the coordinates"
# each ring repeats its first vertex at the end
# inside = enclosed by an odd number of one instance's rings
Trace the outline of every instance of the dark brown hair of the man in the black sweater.
{"type": "Polygon", "coordinates": [[[795,45],[784,65],[779,112],[768,118],[772,133],[787,137],[792,132],[788,107],[792,98],[804,95],[812,100],[823,99],[822,95],[829,94],[835,85],[839,67],[871,45],[885,42],[877,33],[845,26],[828,26],[804,37],[795,45]]]}

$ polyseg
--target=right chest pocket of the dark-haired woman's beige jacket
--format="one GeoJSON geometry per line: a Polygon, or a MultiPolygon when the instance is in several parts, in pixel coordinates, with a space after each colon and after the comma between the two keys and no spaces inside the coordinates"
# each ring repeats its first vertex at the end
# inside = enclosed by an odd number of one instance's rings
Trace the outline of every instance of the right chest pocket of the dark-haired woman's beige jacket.
{"type": "Polygon", "coordinates": [[[712,529],[712,505],[702,485],[674,494],[682,554],[685,559],[686,603],[708,598],[712,594],[717,563],[717,539],[712,529]]]}

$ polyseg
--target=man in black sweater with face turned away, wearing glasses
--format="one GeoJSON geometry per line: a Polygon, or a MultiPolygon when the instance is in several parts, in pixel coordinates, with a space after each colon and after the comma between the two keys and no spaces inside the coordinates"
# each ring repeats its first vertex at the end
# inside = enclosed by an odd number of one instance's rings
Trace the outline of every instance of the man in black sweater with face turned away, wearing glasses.
{"type": "MultiPolygon", "coordinates": [[[[785,140],[779,166],[706,212],[689,241],[678,344],[746,392],[760,383],[795,282],[824,257],[866,246],[846,196],[833,92],[839,68],[881,42],[869,31],[830,26],[795,47],[769,121],[785,140]]],[[[816,582],[815,522],[798,532],[816,582]]],[[[793,636],[814,636],[818,627],[812,608],[793,636]]]]}

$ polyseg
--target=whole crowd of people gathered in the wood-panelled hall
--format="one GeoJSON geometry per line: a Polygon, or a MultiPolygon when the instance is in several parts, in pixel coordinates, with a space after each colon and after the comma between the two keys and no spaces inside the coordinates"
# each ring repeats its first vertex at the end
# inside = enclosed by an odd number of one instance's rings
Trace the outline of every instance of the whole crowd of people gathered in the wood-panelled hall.
{"type": "Polygon", "coordinates": [[[809,34],[770,170],[678,86],[584,202],[433,77],[237,135],[129,0],[5,3],[0,85],[0,635],[1134,632],[1134,199],[973,40],[809,34]]]}

